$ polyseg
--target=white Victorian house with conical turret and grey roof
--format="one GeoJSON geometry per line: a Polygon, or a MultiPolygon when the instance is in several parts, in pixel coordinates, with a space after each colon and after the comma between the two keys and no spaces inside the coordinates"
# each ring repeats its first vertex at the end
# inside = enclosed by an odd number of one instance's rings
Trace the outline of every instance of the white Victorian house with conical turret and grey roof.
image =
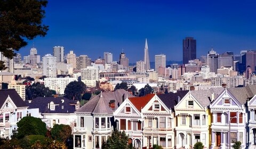
{"type": "Polygon", "coordinates": [[[124,89],[103,92],[75,111],[77,125],[73,129],[74,149],[101,148],[116,128],[113,113],[132,95],[124,89]]]}

